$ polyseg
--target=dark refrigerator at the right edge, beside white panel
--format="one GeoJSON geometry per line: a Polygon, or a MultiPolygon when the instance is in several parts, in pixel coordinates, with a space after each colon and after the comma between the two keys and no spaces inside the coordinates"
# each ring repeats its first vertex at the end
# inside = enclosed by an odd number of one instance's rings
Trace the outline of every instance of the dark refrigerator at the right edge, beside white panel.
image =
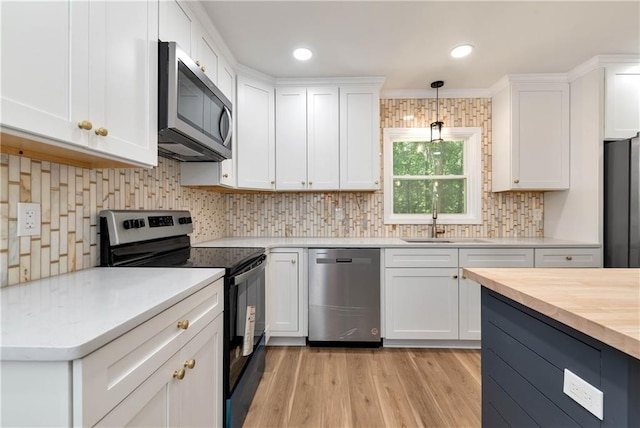
{"type": "Polygon", "coordinates": [[[604,267],[640,267],[639,137],[604,144],[604,267]]]}

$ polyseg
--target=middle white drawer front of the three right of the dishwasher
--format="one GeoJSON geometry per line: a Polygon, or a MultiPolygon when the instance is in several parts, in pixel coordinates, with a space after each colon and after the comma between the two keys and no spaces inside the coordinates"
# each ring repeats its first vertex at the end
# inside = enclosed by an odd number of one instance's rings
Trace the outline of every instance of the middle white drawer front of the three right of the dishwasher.
{"type": "Polygon", "coordinates": [[[533,267],[533,248],[461,248],[460,267],[533,267]]]}

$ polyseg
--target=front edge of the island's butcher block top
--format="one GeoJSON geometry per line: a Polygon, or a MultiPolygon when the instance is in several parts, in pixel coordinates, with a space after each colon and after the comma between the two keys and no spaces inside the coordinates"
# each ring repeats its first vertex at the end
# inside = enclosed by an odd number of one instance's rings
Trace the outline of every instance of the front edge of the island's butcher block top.
{"type": "Polygon", "coordinates": [[[633,337],[531,294],[515,290],[508,285],[476,273],[474,270],[474,268],[464,268],[463,273],[467,278],[481,284],[483,287],[640,360],[640,341],[633,337]]]}

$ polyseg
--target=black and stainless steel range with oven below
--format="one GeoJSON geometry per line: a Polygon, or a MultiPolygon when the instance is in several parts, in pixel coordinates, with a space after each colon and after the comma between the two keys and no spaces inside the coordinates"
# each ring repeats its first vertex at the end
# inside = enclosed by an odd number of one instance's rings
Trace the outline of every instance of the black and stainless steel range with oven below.
{"type": "Polygon", "coordinates": [[[225,269],[223,407],[225,426],[237,427],[264,372],[266,256],[264,248],[191,247],[192,232],[189,211],[102,211],[100,265],[225,269]]]}

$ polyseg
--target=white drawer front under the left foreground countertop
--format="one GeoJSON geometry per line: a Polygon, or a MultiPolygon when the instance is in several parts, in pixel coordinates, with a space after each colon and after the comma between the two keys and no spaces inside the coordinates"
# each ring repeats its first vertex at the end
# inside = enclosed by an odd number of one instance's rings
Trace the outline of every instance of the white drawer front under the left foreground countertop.
{"type": "Polygon", "coordinates": [[[92,426],[222,312],[224,280],[194,293],[73,363],[74,420],[92,426]],[[188,320],[186,329],[178,321],[188,320]],[[78,414],[79,412],[79,414],[78,414]]]}

